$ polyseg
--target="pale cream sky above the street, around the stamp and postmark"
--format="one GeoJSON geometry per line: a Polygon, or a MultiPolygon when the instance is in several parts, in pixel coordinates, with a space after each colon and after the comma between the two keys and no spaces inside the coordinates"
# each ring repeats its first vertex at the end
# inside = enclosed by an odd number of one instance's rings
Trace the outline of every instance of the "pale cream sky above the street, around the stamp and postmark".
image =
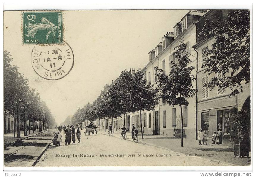
{"type": "Polygon", "coordinates": [[[4,50],[29,80],[60,124],[78,107],[92,103],[124,69],[143,68],[148,53],[188,10],[63,11],[64,40],[74,66],[59,80],[39,77],[31,66],[33,44],[22,43],[22,11],[4,12],[4,50]]]}

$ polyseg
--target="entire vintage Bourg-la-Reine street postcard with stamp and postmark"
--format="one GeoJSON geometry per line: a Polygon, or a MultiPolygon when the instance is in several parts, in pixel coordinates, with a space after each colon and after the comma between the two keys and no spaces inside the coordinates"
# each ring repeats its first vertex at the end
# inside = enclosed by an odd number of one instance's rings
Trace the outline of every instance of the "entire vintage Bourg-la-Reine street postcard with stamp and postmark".
{"type": "Polygon", "coordinates": [[[3,11],[4,170],[251,169],[238,9],[3,11]]]}

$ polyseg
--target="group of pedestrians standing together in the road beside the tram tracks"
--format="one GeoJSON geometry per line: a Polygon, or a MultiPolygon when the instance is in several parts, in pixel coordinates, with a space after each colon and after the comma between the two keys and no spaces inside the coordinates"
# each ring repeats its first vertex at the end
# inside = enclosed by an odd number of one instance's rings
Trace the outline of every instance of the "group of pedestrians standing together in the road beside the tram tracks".
{"type": "Polygon", "coordinates": [[[53,130],[53,135],[54,135],[54,138],[53,138],[53,145],[54,146],[60,146],[61,145],[61,142],[62,142],[62,129],[64,131],[64,134],[65,134],[65,144],[70,144],[71,141],[72,143],[75,143],[75,138],[78,139],[78,143],[80,143],[80,137],[81,137],[81,129],[79,127],[80,125],[77,124],[76,125],[76,128],[71,125],[69,127],[69,125],[66,127],[65,125],[64,126],[55,126],[55,130],[53,130]]]}

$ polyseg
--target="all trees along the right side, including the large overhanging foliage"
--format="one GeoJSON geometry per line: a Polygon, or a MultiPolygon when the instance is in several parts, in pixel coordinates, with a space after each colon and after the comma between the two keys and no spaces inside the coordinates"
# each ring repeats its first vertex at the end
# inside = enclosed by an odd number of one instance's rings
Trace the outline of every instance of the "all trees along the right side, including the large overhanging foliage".
{"type": "MultiPolygon", "coordinates": [[[[206,20],[203,31],[199,35],[204,35],[205,38],[214,37],[216,41],[211,50],[205,51],[207,57],[203,59],[202,67],[207,67],[205,72],[209,75],[219,72],[224,74],[230,72],[230,75],[222,78],[213,77],[205,86],[211,89],[218,86],[219,90],[229,87],[232,91],[230,96],[232,96],[242,92],[241,82],[245,81],[245,84],[250,82],[249,22],[249,11],[246,10],[230,12],[225,21],[206,20]],[[221,50],[219,50],[220,47],[221,50]]],[[[105,120],[105,117],[113,119],[121,115],[125,116],[128,112],[140,111],[140,124],[142,124],[141,111],[154,110],[159,98],[162,98],[171,106],[180,106],[181,146],[183,146],[182,105],[187,106],[189,104],[187,98],[193,97],[197,92],[192,85],[195,76],[191,74],[195,67],[188,67],[191,60],[188,58],[183,41],[174,50],[174,56],[178,62],[172,62],[169,74],[165,74],[162,69],[155,68],[157,88],[153,88],[150,83],[147,84],[140,69],[135,74],[124,71],[102,97],[91,105],[88,104],[82,109],[78,108],[72,118],[76,122],[96,118],[105,120]]],[[[142,125],[140,127],[143,138],[142,125]]]]}

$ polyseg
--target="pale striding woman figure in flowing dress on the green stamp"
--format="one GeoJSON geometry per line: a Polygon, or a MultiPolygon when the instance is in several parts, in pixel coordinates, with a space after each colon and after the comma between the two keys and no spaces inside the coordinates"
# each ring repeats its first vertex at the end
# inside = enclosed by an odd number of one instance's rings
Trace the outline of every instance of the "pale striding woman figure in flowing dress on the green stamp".
{"type": "Polygon", "coordinates": [[[29,22],[28,25],[25,24],[25,29],[27,29],[28,32],[26,36],[31,38],[34,38],[38,30],[47,30],[48,33],[46,35],[46,40],[48,40],[48,36],[50,35],[50,33],[52,33],[52,36],[54,38],[56,31],[59,30],[60,27],[55,26],[53,23],[43,17],[41,23],[34,24],[29,22]]]}

